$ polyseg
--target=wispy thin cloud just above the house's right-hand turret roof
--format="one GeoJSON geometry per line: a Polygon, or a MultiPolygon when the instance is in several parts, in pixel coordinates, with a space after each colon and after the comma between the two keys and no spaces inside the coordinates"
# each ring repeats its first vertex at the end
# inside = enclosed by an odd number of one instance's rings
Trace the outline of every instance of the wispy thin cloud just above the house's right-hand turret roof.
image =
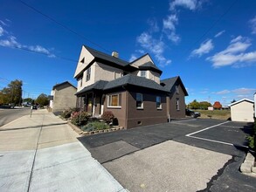
{"type": "Polygon", "coordinates": [[[152,52],[160,66],[170,65],[171,60],[163,56],[165,44],[162,40],[153,38],[149,33],[143,32],[137,37],[137,42],[148,51],[152,52]]]}

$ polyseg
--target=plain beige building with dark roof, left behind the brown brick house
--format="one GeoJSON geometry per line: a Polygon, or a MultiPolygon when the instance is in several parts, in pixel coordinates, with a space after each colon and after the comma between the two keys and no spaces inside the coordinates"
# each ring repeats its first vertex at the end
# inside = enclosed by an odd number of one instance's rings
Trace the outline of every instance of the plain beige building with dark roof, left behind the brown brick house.
{"type": "Polygon", "coordinates": [[[77,88],[68,81],[52,87],[50,107],[53,113],[60,113],[65,109],[76,106],[77,88]]]}

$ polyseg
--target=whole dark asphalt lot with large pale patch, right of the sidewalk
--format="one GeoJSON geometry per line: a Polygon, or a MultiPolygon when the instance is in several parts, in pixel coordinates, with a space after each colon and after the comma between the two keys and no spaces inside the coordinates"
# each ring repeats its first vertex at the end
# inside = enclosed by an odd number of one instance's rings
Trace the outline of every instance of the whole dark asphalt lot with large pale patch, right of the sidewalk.
{"type": "Polygon", "coordinates": [[[188,119],[80,142],[130,191],[253,191],[256,179],[239,172],[250,130],[245,123],[188,119]]]}

